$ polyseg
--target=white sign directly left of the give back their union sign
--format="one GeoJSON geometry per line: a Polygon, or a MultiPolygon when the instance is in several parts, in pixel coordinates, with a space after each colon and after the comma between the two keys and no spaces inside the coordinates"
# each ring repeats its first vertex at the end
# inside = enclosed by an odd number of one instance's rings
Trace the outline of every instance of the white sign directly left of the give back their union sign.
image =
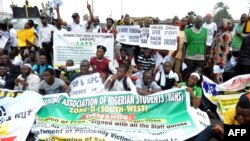
{"type": "Polygon", "coordinates": [[[116,26],[116,40],[123,44],[139,45],[140,44],[140,26],[139,25],[123,25],[116,26]]]}

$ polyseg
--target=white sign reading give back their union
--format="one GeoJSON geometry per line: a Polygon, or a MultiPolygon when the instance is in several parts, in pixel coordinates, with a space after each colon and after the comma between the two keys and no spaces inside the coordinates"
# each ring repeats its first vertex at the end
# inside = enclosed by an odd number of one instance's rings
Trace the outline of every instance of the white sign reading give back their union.
{"type": "Polygon", "coordinates": [[[172,25],[150,25],[147,47],[152,49],[177,49],[179,27],[172,25]]]}

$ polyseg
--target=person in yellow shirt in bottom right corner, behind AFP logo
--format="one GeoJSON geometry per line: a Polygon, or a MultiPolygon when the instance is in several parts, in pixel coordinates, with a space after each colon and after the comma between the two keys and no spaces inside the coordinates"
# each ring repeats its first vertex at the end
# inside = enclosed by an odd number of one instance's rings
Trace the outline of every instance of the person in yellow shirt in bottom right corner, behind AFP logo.
{"type": "MultiPolygon", "coordinates": [[[[242,94],[235,108],[228,109],[224,114],[223,123],[230,125],[250,126],[250,93],[242,94]]],[[[222,123],[208,126],[195,138],[194,141],[210,141],[216,138],[218,141],[224,140],[224,126],[222,123]]]]}

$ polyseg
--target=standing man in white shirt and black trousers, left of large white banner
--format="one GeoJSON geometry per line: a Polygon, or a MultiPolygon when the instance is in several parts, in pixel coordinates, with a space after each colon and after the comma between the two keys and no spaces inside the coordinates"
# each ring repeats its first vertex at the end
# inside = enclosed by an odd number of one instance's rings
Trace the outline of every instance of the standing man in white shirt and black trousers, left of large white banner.
{"type": "Polygon", "coordinates": [[[40,30],[41,35],[41,43],[42,48],[45,51],[45,55],[47,57],[48,64],[52,65],[52,59],[53,59],[53,33],[56,31],[56,28],[48,24],[47,16],[45,14],[41,15],[41,21],[43,26],[40,30]]]}

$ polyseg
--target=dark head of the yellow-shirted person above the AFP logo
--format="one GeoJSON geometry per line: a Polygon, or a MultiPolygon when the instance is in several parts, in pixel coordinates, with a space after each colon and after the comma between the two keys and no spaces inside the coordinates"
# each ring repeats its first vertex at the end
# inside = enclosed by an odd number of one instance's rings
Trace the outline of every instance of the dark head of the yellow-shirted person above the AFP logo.
{"type": "Polygon", "coordinates": [[[240,125],[250,125],[250,93],[240,96],[234,118],[240,125]]]}

